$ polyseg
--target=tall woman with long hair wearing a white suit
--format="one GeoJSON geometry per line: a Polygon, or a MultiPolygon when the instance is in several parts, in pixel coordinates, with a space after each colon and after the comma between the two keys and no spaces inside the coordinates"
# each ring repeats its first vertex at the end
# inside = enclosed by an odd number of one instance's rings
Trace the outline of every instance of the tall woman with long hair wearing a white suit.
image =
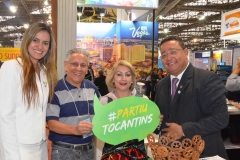
{"type": "Polygon", "coordinates": [[[57,80],[51,28],[34,23],[0,69],[1,160],[47,160],[46,108],[57,80]]]}

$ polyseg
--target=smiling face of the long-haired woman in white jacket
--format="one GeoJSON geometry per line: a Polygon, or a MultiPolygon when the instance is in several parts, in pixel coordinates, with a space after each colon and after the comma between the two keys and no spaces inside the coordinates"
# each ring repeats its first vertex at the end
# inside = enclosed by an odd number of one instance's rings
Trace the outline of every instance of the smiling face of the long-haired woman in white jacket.
{"type": "Polygon", "coordinates": [[[48,52],[50,35],[47,31],[38,32],[28,46],[28,52],[33,64],[37,64],[48,52]]]}

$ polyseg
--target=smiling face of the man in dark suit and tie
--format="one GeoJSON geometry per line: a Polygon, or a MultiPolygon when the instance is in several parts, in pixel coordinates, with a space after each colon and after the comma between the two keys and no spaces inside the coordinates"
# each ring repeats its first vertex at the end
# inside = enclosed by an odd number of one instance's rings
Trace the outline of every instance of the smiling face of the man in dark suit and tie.
{"type": "Polygon", "coordinates": [[[178,41],[166,41],[160,47],[161,53],[168,53],[162,59],[162,64],[168,73],[178,76],[187,67],[188,64],[188,50],[182,49],[178,41]],[[171,55],[168,52],[173,49],[179,49],[176,55],[171,55]]]}

